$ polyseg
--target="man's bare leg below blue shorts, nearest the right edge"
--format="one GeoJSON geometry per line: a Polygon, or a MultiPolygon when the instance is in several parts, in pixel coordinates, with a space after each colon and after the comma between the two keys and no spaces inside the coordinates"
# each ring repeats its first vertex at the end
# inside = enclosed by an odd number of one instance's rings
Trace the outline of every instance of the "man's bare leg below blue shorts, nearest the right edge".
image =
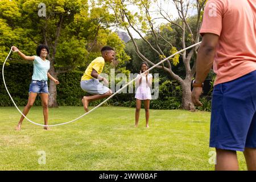
{"type": "Polygon", "coordinates": [[[256,148],[245,148],[243,151],[249,171],[256,171],[256,148]]]}

